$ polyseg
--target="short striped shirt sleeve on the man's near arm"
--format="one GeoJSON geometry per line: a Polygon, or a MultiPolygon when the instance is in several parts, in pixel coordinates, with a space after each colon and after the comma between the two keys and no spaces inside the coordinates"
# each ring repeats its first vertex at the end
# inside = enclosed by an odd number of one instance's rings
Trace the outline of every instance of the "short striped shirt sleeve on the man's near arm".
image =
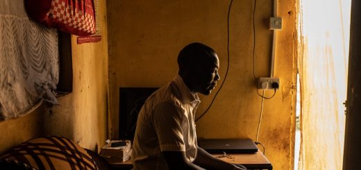
{"type": "Polygon", "coordinates": [[[176,103],[158,103],[152,116],[160,151],[185,151],[182,128],[184,109],[176,103]]]}

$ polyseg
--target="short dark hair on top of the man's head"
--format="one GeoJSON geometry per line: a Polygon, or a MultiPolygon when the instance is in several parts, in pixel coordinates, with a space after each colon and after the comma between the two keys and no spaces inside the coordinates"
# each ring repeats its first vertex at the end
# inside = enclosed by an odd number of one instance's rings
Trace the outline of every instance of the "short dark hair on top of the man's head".
{"type": "Polygon", "coordinates": [[[185,46],[178,54],[178,67],[180,71],[187,67],[192,67],[194,64],[204,60],[205,58],[212,58],[215,56],[215,50],[201,44],[194,42],[185,46]]]}

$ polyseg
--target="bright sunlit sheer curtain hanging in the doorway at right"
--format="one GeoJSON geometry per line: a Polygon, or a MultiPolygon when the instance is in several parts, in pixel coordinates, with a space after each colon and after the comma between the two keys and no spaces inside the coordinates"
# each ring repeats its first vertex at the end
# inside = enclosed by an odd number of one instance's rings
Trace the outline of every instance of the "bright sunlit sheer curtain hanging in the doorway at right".
{"type": "Polygon", "coordinates": [[[299,169],[342,169],[351,0],[300,0],[299,169]]]}

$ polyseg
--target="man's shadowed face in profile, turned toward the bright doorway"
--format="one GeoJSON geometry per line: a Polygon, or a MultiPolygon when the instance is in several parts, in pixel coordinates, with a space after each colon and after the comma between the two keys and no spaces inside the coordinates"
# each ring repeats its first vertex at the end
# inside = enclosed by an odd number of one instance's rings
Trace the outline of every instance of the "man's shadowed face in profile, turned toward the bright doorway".
{"type": "Polygon", "coordinates": [[[218,69],[219,59],[216,53],[211,58],[197,62],[192,74],[194,92],[204,95],[210,94],[220,79],[218,69]]]}

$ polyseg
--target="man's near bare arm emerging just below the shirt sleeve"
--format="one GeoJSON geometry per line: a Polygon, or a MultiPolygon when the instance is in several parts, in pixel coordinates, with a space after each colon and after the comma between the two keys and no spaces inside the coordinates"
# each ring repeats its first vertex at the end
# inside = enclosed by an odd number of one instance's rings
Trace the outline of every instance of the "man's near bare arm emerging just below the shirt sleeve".
{"type": "Polygon", "coordinates": [[[169,169],[203,169],[189,162],[182,151],[162,151],[169,169]]]}

